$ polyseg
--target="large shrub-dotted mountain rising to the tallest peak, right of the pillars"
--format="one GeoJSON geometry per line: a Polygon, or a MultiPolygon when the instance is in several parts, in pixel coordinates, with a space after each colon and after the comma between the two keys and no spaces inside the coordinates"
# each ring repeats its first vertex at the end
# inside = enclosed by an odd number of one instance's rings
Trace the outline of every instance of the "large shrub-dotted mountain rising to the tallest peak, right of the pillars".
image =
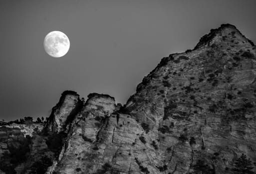
{"type": "Polygon", "coordinates": [[[141,161],[150,173],[166,165],[167,173],[198,174],[203,161],[208,171],[228,174],[242,153],[256,161],[255,54],[252,42],[226,24],[143,79],[125,112],[149,129],[146,142],[156,137],[155,152],[166,157],[141,161]]]}

